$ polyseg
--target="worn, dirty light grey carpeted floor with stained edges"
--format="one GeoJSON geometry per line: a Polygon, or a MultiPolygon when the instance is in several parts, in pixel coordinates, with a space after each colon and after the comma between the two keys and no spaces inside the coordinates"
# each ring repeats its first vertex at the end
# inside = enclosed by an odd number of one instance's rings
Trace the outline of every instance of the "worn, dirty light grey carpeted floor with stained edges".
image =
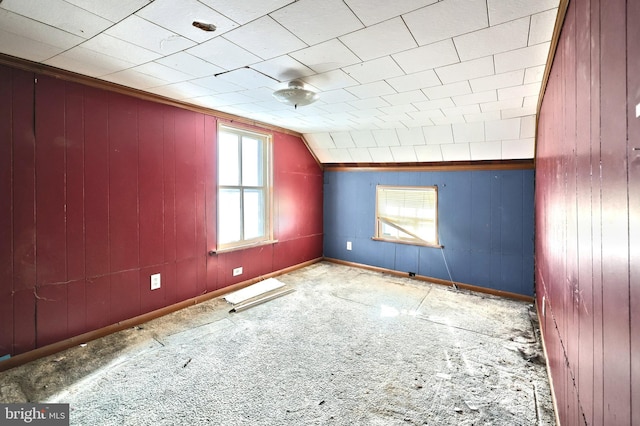
{"type": "Polygon", "coordinates": [[[332,263],[0,376],[74,425],[551,425],[533,308],[332,263]]]}

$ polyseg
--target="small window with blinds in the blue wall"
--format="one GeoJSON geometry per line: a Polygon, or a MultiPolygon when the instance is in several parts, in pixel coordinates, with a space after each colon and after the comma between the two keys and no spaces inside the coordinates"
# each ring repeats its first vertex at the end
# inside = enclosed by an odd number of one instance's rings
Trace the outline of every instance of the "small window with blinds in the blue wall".
{"type": "Polygon", "coordinates": [[[438,187],[376,187],[375,239],[437,246],[438,187]]]}

